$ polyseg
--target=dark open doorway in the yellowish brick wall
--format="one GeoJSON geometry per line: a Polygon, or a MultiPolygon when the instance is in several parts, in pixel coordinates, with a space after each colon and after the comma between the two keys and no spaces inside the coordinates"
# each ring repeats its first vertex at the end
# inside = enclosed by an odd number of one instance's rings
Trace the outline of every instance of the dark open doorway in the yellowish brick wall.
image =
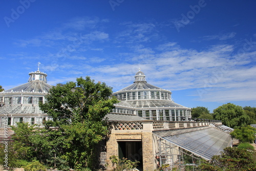
{"type": "Polygon", "coordinates": [[[142,143],[141,141],[118,141],[118,157],[127,158],[131,161],[139,161],[142,164],[142,143]]]}

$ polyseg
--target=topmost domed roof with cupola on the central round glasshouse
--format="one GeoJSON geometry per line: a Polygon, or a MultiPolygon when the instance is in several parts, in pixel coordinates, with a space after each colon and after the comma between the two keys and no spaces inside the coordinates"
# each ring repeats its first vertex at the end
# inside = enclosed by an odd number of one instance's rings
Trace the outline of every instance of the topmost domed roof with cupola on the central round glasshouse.
{"type": "Polygon", "coordinates": [[[157,89],[157,90],[164,90],[159,87],[153,86],[152,84],[149,84],[146,82],[145,74],[139,71],[135,74],[135,81],[130,86],[127,86],[126,88],[123,88],[117,92],[121,91],[127,91],[127,90],[143,90],[143,89],[157,89]]]}

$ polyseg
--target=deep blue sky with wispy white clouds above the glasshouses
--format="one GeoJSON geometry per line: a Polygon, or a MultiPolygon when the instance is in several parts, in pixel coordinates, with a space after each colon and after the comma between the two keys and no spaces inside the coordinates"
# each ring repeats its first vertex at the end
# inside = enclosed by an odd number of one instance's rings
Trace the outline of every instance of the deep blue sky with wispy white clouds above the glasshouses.
{"type": "Polygon", "coordinates": [[[90,76],[118,91],[141,68],[175,102],[256,107],[256,1],[0,2],[0,85],[90,76]]]}

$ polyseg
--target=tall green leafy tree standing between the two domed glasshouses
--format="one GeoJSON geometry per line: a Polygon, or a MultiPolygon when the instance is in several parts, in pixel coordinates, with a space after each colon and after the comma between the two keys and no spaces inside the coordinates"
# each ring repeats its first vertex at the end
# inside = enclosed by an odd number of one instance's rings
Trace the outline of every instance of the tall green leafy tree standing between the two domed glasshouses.
{"type": "Polygon", "coordinates": [[[58,84],[49,91],[45,96],[47,101],[39,106],[53,118],[46,121],[45,127],[54,159],[64,159],[78,170],[93,168],[97,145],[109,132],[104,117],[118,102],[111,94],[112,88],[105,83],[94,83],[90,77],[58,84]]]}

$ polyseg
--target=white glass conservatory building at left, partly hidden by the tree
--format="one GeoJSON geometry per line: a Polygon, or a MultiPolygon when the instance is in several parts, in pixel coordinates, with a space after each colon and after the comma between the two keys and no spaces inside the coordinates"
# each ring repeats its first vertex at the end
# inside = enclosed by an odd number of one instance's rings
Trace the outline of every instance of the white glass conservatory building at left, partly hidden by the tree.
{"type": "Polygon", "coordinates": [[[0,126],[16,125],[17,122],[42,124],[48,120],[47,114],[40,111],[38,103],[45,101],[45,95],[52,88],[47,83],[47,74],[38,70],[29,73],[29,80],[20,86],[0,92],[0,126]]]}

